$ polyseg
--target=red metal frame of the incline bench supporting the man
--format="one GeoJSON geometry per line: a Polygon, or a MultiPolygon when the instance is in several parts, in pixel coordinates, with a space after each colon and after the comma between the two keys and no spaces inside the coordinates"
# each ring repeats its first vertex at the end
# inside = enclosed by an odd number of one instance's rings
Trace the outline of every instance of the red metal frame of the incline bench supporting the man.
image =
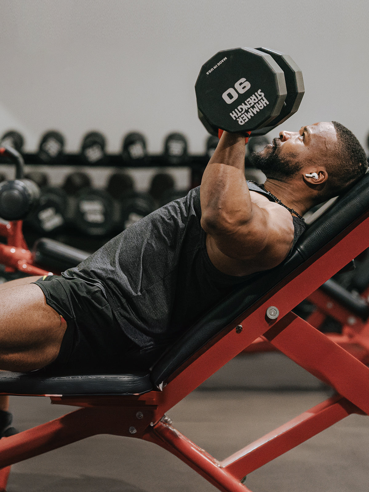
{"type": "MultiPolygon", "coordinates": [[[[166,381],[163,391],[141,396],[49,396],[53,403],[82,407],[51,422],[0,440],[0,466],[37,456],[90,435],[108,433],[154,442],[224,492],[245,492],[241,482],[272,461],[351,413],[369,415],[369,368],[344,348],[291,312],[328,278],[369,246],[369,211],[328,245],[246,309],[222,332],[187,360],[166,381]],[[276,306],[279,317],[266,310],[276,306]],[[240,328],[240,325],[242,328],[240,328]],[[217,369],[258,337],[320,380],[337,396],[307,410],[223,461],[217,461],[172,427],[165,416],[217,369]]],[[[1,471],[6,487],[9,468],[1,471]]]]}

